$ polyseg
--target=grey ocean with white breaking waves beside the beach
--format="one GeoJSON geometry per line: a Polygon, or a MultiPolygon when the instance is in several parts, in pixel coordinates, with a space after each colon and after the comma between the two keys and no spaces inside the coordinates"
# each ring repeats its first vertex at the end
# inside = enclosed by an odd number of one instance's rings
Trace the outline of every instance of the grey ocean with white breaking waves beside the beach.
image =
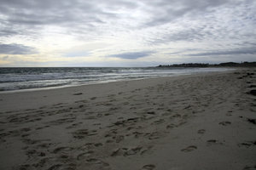
{"type": "Polygon", "coordinates": [[[151,77],[177,77],[227,68],[25,67],[0,68],[0,91],[61,88],[151,77]]]}

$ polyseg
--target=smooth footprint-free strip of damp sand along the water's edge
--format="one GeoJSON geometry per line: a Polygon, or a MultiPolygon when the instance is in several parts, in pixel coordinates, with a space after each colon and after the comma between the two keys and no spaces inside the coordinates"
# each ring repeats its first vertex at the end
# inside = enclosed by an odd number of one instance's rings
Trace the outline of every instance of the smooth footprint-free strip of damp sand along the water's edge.
{"type": "MultiPolygon", "coordinates": [[[[197,77],[197,76],[207,76],[207,75],[219,75],[225,74],[232,71],[212,71],[212,72],[201,72],[198,74],[189,74],[189,75],[179,75],[174,77],[150,77],[143,78],[138,80],[125,80],[118,82],[105,82],[105,83],[96,83],[96,84],[84,84],[77,86],[68,86],[60,88],[33,88],[33,89],[24,89],[24,90],[15,90],[15,91],[5,91],[0,92],[0,108],[3,111],[12,108],[13,110],[26,109],[27,106],[30,106],[28,109],[34,109],[38,107],[38,100],[40,105],[57,105],[59,104],[59,99],[55,96],[61,96],[61,101],[67,103],[73,103],[73,99],[82,99],[84,95],[87,95],[87,98],[94,98],[100,95],[107,94],[118,94],[115,92],[119,91],[131,91],[137,88],[145,88],[145,84],[156,85],[158,82],[163,83],[167,80],[170,81],[180,81],[187,77],[197,77]],[[141,83],[142,82],[142,83],[141,83]],[[125,87],[129,84],[131,87],[128,89],[116,89],[111,87],[125,87]],[[95,89],[99,88],[96,91],[96,94],[92,93],[95,89]],[[106,91],[110,90],[110,93],[106,91]],[[82,93],[82,95],[80,95],[82,93]],[[79,95],[75,95],[79,94],[79,95]],[[81,98],[82,97],[82,98],[81,98]],[[13,103],[18,103],[19,105],[13,105],[13,103]]],[[[236,70],[235,70],[236,71],[236,70]]]]}

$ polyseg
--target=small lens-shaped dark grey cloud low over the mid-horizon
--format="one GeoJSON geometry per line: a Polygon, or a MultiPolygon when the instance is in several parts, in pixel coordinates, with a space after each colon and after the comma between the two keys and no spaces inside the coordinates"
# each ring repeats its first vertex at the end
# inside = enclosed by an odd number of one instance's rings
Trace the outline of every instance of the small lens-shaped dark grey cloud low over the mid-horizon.
{"type": "Polygon", "coordinates": [[[122,54],[113,54],[110,57],[116,57],[120,59],[139,59],[147,57],[150,54],[154,54],[153,51],[142,51],[142,52],[131,52],[131,53],[122,53],[122,54]]]}

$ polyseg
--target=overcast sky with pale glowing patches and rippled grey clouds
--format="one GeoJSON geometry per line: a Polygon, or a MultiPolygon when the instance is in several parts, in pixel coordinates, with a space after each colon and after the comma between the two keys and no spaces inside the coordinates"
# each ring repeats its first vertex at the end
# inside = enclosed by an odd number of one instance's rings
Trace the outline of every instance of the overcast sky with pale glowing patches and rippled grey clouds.
{"type": "Polygon", "coordinates": [[[255,0],[0,0],[0,67],[256,61],[255,0]]]}

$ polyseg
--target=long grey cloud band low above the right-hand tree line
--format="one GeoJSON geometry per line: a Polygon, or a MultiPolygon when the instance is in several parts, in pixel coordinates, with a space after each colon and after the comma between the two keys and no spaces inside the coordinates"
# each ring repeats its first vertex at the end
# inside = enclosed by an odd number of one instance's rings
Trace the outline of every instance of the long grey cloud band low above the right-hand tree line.
{"type": "Polygon", "coordinates": [[[212,55],[237,55],[237,54],[256,54],[256,48],[241,48],[233,50],[216,50],[205,53],[186,54],[186,56],[212,56],[212,55]]]}

